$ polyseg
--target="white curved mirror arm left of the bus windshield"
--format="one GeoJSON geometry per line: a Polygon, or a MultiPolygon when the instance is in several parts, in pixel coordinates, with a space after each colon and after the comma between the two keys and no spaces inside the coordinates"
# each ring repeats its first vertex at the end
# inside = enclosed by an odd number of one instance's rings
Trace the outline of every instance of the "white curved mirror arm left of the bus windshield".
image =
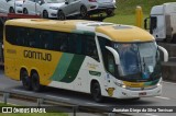
{"type": "Polygon", "coordinates": [[[112,53],[113,57],[114,57],[114,62],[116,65],[120,65],[120,57],[119,57],[119,54],[112,48],[112,47],[109,47],[109,46],[106,46],[106,48],[112,53]]]}

